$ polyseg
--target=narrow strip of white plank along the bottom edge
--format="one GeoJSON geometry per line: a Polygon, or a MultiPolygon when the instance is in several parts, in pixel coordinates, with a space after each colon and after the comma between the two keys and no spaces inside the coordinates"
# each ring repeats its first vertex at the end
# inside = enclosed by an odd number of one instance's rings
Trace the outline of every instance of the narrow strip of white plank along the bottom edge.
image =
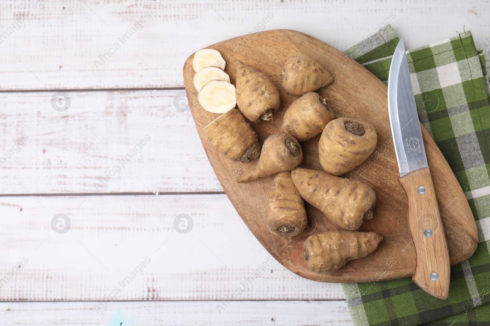
{"type": "Polygon", "coordinates": [[[216,301],[0,303],[3,325],[288,325],[351,326],[345,301],[241,301],[218,311],[216,301]],[[220,313],[221,312],[221,313],[220,313]]]}

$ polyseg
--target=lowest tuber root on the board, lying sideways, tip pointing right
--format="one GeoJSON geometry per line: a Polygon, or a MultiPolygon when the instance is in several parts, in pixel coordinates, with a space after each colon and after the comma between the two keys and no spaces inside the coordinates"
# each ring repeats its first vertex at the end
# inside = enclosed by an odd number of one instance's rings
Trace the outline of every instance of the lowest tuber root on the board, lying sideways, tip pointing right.
{"type": "Polygon", "coordinates": [[[353,259],[368,256],[383,237],[375,232],[326,231],[310,236],[303,243],[303,257],[315,273],[332,273],[353,259]]]}

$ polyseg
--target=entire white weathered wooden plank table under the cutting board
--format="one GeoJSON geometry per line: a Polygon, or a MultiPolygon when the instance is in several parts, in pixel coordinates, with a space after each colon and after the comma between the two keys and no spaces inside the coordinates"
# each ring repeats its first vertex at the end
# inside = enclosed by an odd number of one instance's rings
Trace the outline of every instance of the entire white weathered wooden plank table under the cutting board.
{"type": "Polygon", "coordinates": [[[253,237],[174,102],[199,48],[258,27],[344,50],[390,14],[407,48],[490,46],[487,1],[1,1],[0,324],[352,325],[340,284],[253,237]]]}

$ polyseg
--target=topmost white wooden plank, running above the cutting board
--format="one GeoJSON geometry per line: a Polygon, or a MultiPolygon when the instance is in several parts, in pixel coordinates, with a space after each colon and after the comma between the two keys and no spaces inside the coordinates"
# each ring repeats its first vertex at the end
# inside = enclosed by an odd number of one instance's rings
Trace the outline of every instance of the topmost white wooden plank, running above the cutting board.
{"type": "Polygon", "coordinates": [[[455,36],[466,25],[476,44],[485,44],[490,66],[486,1],[405,2],[5,0],[0,89],[182,87],[189,55],[254,28],[296,29],[344,50],[386,22],[408,49],[455,36]],[[273,18],[263,23],[269,12],[273,18]]]}

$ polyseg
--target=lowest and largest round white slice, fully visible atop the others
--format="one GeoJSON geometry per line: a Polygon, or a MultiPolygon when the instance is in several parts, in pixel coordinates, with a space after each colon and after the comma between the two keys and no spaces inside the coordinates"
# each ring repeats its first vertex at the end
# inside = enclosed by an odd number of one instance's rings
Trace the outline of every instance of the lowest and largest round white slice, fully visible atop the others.
{"type": "Polygon", "coordinates": [[[224,113],[237,105],[235,86],[219,80],[202,87],[197,99],[201,107],[211,113],[224,113]]]}

